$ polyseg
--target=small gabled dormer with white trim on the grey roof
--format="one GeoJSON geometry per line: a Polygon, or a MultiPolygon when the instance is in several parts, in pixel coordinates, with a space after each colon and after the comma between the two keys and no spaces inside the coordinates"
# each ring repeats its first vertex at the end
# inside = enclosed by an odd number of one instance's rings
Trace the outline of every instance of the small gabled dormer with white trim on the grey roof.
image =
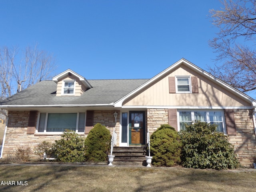
{"type": "Polygon", "coordinates": [[[80,96],[92,88],[84,77],[70,69],[53,77],[52,80],[57,83],[56,96],[80,96]]]}

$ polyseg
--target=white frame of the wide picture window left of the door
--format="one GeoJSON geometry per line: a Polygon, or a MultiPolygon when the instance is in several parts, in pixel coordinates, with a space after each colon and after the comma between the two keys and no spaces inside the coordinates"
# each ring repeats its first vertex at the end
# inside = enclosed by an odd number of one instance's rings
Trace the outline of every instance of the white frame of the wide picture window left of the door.
{"type": "MultiPolygon", "coordinates": [[[[36,125],[36,133],[37,134],[62,134],[63,132],[47,132],[46,131],[46,128],[47,128],[47,122],[48,122],[48,114],[49,113],[65,113],[65,112],[39,112],[39,115],[38,115],[38,120],[37,120],[37,125],[36,125]],[[41,116],[41,113],[46,113],[46,117],[45,117],[45,122],[44,122],[44,132],[38,132],[38,129],[39,129],[39,121],[40,121],[40,116],[41,116]]],[[[85,129],[85,123],[86,123],[86,113],[85,112],[74,112],[76,113],[76,133],[78,134],[84,134],[84,131],[83,132],[78,132],[78,125],[79,125],[79,114],[80,113],[84,113],[84,129],[85,129]]]]}

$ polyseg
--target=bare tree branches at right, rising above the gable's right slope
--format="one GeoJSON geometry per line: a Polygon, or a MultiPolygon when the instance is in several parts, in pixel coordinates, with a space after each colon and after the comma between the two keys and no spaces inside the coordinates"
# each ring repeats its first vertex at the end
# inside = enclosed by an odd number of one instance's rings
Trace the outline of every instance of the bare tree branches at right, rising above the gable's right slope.
{"type": "Polygon", "coordinates": [[[256,0],[220,0],[221,10],[210,10],[219,28],[210,46],[220,65],[210,72],[243,92],[256,90],[256,0]]]}

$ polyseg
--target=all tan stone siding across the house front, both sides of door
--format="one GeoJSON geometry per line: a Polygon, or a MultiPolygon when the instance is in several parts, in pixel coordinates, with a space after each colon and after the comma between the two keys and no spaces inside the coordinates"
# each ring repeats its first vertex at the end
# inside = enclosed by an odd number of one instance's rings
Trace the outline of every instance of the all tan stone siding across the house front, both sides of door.
{"type": "MultiPolygon", "coordinates": [[[[120,135],[120,111],[115,122],[115,110],[96,110],[94,111],[94,124],[101,123],[106,126],[112,135],[115,127],[117,141],[120,135]]],[[[6,138],[4,143],[3,158],[14,155],[19,147],[29,146],[31,156],[34,148],[42,141],[54,142],[61,138],[55,134],[27,134],[29,111],[9,111],[9,121],[7,125],[6,138]]],[[[168,124],[168,109],[148,109],[146,112],[146,128],[152,134],[161,124],[168,124]]],[[[228,136],[230,143],[234,145],[234,151],[242,166],[252,167],[256,162],[256,138],[252,120],[252,110],[234,110],[236,121],[236,136],[228,136]]],[[[86,137],[87,135],[81,134],[86,137]]],[[[117,142],[118,144],[118,142],[117,142]]]]}

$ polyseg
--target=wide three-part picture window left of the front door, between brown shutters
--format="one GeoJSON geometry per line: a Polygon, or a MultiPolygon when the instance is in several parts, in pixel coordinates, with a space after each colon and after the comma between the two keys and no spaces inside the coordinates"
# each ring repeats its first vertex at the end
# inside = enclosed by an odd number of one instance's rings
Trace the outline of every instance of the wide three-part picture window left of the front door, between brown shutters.
{"type": "Polygon", "coordinates": [[[85,113],[40,113],[38,132],[84,132],[85,113]]]}

